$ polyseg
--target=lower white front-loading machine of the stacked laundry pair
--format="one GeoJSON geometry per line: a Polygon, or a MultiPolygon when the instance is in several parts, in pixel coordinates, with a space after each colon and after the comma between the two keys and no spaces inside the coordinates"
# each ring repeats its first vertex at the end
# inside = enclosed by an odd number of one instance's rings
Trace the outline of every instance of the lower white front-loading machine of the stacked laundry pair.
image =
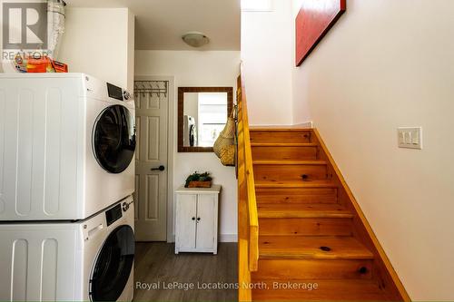
{"type": "Polygon", "coordinates": [[[0,224],[0,301],[131,301],[133,199],[80,222],[0,224]]]}

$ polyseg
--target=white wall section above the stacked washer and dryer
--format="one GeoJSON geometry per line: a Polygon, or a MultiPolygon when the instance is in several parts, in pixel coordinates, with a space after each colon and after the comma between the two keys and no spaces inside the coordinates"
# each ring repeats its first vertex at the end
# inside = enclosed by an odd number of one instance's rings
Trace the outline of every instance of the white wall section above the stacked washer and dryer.
{"type": "Polygon", "coordinates": [[[133,90],[134,16],[128,8],[66,9],[58,60],[73,73],[88,73],[133,90]]]}

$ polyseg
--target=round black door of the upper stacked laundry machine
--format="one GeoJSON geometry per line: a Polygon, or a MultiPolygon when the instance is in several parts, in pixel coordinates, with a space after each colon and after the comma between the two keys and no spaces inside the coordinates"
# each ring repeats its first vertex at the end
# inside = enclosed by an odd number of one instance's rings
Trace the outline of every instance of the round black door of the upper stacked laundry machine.
{"type": "Polygon", "coordinates": [[[107,107],[94,124],[93,139],[96,161],[111,173],[128,168],[135,151],[134,120],[121,105],[107,107]]]}

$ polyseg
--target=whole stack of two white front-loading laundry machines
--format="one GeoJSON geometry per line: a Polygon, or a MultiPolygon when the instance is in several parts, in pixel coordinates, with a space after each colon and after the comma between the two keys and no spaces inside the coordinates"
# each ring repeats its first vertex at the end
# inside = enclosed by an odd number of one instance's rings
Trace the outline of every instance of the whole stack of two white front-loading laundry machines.
{"type": "Polygon", "coordinates": [[[83,73],[0,76],[0,300],[132,300],[134,114],[83,73]]]}

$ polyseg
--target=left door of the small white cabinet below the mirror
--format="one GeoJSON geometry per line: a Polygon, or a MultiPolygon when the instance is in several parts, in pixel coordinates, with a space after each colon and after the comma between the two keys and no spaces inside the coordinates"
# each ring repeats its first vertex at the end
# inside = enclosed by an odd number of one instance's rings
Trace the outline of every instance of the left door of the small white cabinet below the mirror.
{"type": "Polygon", "coordinates": [[[178,248],[195,248],[195,219],[197,195],[180,194],[176,205],[176,245],[178,248]]]}

